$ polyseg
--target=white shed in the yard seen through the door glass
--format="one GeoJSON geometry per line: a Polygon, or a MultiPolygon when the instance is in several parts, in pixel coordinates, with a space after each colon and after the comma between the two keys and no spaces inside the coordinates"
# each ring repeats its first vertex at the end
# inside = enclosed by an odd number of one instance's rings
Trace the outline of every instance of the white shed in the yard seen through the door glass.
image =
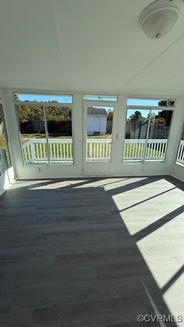
{"type": "Polygon", "coordinates": [[[105,108],[87,108],[87,135],[96,133],[104,135],[107,128],[107,112],[105,108]]]}

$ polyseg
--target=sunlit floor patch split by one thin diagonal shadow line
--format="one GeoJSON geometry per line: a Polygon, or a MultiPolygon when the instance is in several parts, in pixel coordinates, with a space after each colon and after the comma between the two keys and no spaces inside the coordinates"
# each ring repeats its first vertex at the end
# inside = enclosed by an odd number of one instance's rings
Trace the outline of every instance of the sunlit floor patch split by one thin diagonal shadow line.
{"type": "MultiPolygon", "coordinates": [[[[159,226],[161,224],[159,220],[162,218],[166,217],[167,222],[170,214],[179,208],[183,200],[182,194],[175,187],[171,189],[170,183],[168,184],[169,188],[163,189],[160,193],[155,191],[151,183],[149,188],[147,185],[147,192],[144,191],[143,185],[112,196],[130,235],[146,227],[152,227],[154,223],[155,226],[156,224],[159,226]]],[[[176,212],[175,219],[179,216],[176,212]]],[[[177,228],[176,223],[174,225],[177,228]]]]}

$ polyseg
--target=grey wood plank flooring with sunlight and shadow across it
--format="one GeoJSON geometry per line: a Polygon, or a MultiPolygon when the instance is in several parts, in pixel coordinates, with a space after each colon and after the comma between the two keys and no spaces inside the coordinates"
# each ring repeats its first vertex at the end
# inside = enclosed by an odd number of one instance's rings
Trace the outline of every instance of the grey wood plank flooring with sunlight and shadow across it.
{"type": "Polygon", "coordinates": [[[17,181],[0,197],[0,326],[184,320],[183,190],[170,176],[17,181]]]}

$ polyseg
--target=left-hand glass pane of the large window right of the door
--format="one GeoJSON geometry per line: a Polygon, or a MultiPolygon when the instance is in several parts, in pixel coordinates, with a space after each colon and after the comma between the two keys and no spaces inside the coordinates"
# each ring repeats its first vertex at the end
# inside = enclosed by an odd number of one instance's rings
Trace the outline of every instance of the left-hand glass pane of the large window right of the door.
{"type": "Polygon", "coordinates": [[[150,110],[127,109],[123,161],[143,161],[150,110]]]}

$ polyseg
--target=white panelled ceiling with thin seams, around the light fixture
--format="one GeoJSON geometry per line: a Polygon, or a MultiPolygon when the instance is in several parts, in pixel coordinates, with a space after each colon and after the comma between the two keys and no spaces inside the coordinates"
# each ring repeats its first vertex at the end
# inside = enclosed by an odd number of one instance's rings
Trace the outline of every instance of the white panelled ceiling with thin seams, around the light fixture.
{"type": "Polygon", "coordinates": [[[152,0],[0,0],[0,87],[184,95],[184,16],[152,40],[152,0]]]}

